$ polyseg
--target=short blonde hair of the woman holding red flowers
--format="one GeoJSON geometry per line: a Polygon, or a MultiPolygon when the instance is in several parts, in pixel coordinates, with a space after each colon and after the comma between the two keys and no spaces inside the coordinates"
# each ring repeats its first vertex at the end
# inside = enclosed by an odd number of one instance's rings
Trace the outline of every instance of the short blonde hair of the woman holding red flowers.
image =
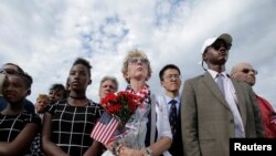
{"type": "MultiPolygon", "coordinates": [[[[124,64],[123,64],[123,67],[121,67],[121,73],[123,73],[125,80],[127,81],[127,83],[130,83],[129,79],[127,79],[125,76],[126,73],[127,73],[127,69],[128,69],[128,60],[131,59],[131,58],[138,58],[138,56],[148,60],[148,56],[146,55],[146,53],[144,51],[141,51],[141,50],[138,50],[138,49],[130,50],[127,53],[126,58],[124,59],[124,64]]],[[[151,73],[152,73],[152,70],[151,70],[151,66],[150,66],[150,62],[148,61],[148,75],[147,75],[146,80],[150,79],[151,73]]]]}

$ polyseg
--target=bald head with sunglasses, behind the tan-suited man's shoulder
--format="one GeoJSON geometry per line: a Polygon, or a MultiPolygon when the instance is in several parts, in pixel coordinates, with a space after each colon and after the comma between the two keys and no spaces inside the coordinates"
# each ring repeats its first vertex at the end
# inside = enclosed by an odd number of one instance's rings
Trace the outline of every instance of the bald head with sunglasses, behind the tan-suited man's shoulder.
{"type": "Polygon", "coordinates": [[[251,86],[253,86],[256,82],[256,74],[257,71],[254,70],[250,63],[238,63],[231,71],[231,76],[233,79],[243,81],[250,84],[251,86]]]}

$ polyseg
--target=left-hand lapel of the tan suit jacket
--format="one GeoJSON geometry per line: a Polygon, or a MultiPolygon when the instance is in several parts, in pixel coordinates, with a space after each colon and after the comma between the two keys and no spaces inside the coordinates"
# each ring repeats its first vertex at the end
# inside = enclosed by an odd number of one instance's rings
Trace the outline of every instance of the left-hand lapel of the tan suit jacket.
{"type": "Polygon", "coordinates": [[[227,107],[229,107],[229,104],[227,102],[225,101],[224,98],[224,95],[222,94],[222,92],[220,91],[219,86],[216,85],[216,83],[214,82],[213,77],[211,76],[211,74],[209,72],[205,72],[204,75],[203,75],[203,82],[204,84],[208,86],[208,89],[210,90],[211,93],[214,94],[214,96],[221,101],[221,103],[227,107]]]}

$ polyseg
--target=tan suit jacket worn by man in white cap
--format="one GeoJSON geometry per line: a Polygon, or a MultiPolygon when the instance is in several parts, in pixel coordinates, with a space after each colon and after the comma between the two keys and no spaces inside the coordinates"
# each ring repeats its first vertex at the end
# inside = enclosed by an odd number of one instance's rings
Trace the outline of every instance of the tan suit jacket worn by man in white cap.
{"type": "MultiPolygon", "coordinates": [[[[264,137],[256,98],[250,85],[232,80],[246,137],[264,137]]],[[[209,72],[184,82],[181,96],[183,147],[187,156],[229,156],[234,117],[209,72]]]]}

